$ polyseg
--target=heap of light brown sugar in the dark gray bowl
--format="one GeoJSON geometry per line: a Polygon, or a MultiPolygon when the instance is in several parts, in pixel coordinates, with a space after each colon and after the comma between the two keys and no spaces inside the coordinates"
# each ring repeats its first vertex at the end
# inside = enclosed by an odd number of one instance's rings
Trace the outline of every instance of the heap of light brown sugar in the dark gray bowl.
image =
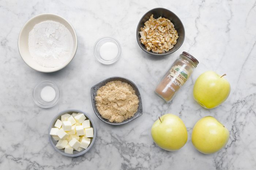
{"type": "Polygon", "coordinates": [[[121,81],[106,83],[95,97],[99,114],[109,122],[123,122],[138,110],[139,99],[133,88],[121,81]]]}

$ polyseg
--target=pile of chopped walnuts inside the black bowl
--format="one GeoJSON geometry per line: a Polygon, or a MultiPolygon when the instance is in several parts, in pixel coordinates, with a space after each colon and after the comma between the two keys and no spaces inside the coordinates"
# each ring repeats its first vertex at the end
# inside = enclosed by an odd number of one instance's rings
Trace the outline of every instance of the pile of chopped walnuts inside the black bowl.
{"type": "Polygon", "coordinates": [[[153,18],[153,14],[140,28],[140,42],[148,51],[163,53],[171,50],[177,43],[178,32],[173,23],[166,18],[153,18]]]}

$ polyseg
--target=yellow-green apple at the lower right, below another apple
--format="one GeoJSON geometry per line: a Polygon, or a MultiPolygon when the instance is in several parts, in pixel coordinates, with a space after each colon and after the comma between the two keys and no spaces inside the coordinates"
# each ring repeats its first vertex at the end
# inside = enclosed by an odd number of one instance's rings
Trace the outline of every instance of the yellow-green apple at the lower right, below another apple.
{"type": "Polygon", "coordinates": [[[191,139],[198,151],[212,154],[227,144],[229,131],[214,117],[206,116],[196,122],[191,139]]]}

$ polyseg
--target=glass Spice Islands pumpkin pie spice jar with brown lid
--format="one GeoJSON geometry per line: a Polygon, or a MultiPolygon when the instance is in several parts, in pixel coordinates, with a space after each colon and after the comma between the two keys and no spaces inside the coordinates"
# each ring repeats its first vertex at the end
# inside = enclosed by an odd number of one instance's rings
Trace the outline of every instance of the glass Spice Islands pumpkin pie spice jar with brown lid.
{"type": "Polygon", "coordinates": [[[183,51],[158,82],[155,93],[166,102],[170,102],[174,94],[187,81],[198,63],[195,57],[183,51]]]}

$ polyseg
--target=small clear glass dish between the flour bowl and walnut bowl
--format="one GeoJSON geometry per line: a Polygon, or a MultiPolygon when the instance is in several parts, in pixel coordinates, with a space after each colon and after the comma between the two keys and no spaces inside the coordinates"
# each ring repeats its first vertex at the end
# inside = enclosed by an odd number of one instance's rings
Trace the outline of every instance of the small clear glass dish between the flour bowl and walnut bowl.
{"type": "Polygon", "coordinates": [[[94,47],[93,47],[93,53],[94,53],[94,56],[96,57],[96,59],[101,62],[102,64],[112,64],[114,62],[116,62],[119,58],[120,58],[120,55],[121,55],[121,45],[120,43],[112,38],[112,37],[102,37],[100,39],[98,39],[95,44],[94,44],[94,47]],[[104,60],[100,53],[99,53],[99,49],[101,48],[101,46],[105,43],[108,43],[108,42],[112,42],[112,43],[115,43],[117,45],[117,48],[118,48],[118,54],[117,56],[113,59],[113,60],[104,60]]]}

